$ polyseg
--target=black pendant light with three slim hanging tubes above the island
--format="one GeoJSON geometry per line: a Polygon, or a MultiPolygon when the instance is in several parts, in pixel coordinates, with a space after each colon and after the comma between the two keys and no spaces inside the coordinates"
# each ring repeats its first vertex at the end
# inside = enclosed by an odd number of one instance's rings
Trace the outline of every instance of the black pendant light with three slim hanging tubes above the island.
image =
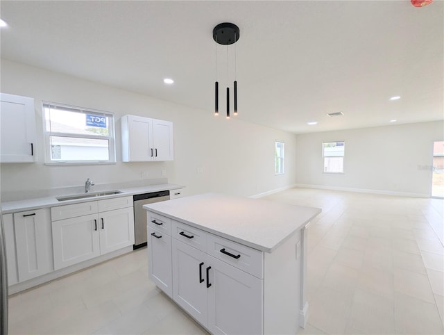
{"type": "MultiPolygon", "coordinates": [[[[213,29],[213,40],[216,42],[216,83],[214,85],[214,115],[219,115],[219,81],[217,81],[217,44],[227,46],[227,82],[228,82],[228,45],[234,44],[239,40],[239,27],[236,24],[224,22],[218,24],[213,29]]],[[[237,115],[237,80],[236,80],[236,46],[234,45],[234,115],[237,115]]],[[[230,88],[227,86],[227,118],[230,118],[230,88]]]]}

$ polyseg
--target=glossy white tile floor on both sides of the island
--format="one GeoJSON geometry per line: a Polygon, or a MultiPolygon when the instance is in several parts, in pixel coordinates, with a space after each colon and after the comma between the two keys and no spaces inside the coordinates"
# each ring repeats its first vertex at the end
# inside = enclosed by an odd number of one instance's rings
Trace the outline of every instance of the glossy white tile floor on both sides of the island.
{"type": "MultiPolygon", "coordinates": [[[[323,209],[299,334],[444,334],[443,200],[303,188],[266,199],[323,209]]],[[[146,249],[9,304],[10,334],[207,334],[148,280],[146,249]]]]}

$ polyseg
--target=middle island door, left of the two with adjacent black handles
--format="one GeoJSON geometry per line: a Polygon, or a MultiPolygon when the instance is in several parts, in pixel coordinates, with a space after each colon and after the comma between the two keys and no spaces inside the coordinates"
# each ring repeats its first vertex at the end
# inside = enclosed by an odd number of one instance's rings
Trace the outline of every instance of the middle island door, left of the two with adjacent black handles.
{"type": "Polygon", "coordinates": [[[173,299],[207,327],[207,254],[173,238],[173,299]]]}

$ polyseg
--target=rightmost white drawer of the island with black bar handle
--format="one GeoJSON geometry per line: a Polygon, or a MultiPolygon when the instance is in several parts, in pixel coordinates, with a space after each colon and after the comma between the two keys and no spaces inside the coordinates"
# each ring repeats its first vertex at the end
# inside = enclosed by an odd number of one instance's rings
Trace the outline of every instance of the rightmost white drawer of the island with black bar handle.
{"type": "Polygon", "coordinates": [[[213,234],[208,234],[207,245],[208,254],[216,259],[244,270],[259,279],[264,278],[263,252],[213,234]]]}

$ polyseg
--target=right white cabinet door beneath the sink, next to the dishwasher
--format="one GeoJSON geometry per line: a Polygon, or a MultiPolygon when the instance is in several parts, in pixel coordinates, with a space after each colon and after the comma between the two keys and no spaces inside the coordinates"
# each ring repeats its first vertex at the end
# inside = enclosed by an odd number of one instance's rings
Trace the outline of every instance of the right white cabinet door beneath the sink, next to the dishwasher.
{"type": "Polygon", "coordinates": [[[100,253],[134,244],[133,207],[99,213],[100,253]]]}

